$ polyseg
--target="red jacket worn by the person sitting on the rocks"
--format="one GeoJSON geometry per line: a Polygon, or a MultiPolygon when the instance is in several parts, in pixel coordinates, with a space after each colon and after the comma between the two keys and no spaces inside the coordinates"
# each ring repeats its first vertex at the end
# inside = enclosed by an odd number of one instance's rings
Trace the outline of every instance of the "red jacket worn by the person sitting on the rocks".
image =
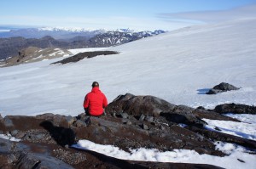
{"type": "Polygon", "coordinates": [[[99,87],[93,87],[84,98],[84,109],[88,109],[90,115],[102,115],[107,105],[108,100],[99,87]]]}

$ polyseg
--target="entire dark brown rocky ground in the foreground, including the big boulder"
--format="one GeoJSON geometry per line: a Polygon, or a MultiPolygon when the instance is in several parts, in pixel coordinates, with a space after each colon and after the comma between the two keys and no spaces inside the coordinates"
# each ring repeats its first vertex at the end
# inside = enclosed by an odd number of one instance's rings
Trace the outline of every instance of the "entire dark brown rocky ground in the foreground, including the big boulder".
{"type": "MultiPolygon", "coordinates": [[[[153,96],[120,95],[106,108],[107,115],[0,116],[0,168],[219,168],[201,164],[124,161],[90,150],[70,147],[79,139],[96,144],[170,151],[195,149],[199,154],[224,156],[214,141],[256,149],[256,142],[229,134],[209,131],[203,118],[238,121],[222,115],[227,112],[256,114],[256,108],[243,104],[221,104],[215,110],[175,105],[153,96]],[[181,127],[181,125],[185,127],[181,127]]],[[[237,159],[240,161],[240,159],[237,159]]]]}

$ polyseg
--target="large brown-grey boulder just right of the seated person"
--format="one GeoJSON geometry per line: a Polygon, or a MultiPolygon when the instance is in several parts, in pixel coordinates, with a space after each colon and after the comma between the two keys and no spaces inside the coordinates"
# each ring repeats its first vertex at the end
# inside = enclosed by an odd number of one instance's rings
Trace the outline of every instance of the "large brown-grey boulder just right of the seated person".
{"type": "Polygon", "coordinates": [[[195,109],[184,105],[170,104],[166,100],[154,96],[135,96],[131,93],[119,95],[106,108],[108,114],[127,113],[137,118],[141,115],[162,116],[167,121],[174,123],[204,126],[206,122],[192,114],[193,110],[195,109]]]}

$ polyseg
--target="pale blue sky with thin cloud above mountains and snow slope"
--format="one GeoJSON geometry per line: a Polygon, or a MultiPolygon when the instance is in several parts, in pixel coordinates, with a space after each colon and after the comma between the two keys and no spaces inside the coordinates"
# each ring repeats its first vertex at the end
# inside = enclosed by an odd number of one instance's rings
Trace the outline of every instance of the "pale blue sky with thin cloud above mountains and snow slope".
{"type": "MultiPolygon", "coordinates": [[[[234,20],[255,5],[256,0],[1,0],[0,25],[168,31],[234,20]]],[[[243,17],[254,17],[254,9],[243,17]]]]}

